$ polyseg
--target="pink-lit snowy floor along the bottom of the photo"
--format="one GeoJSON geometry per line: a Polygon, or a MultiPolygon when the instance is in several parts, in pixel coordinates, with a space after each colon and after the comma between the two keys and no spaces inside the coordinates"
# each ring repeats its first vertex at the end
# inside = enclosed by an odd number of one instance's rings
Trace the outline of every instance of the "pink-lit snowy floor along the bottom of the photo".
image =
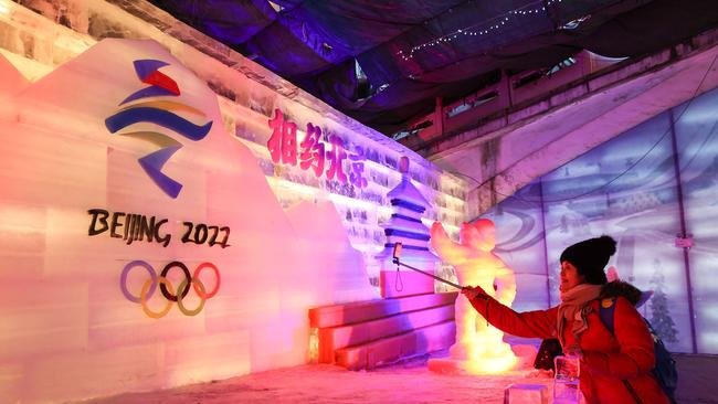
{"type": "MultiPolygon", "coordinates": [[[[416,358],[371,372],[307,364],[167,391],[123,394],[89,403],[503,404],[504,387],[511,383],[550,384],[550,379],[529,371],[501,376],[436,374],[426,369],[426,360],[427,357],[416,358]]],[[[682,378],[679,403],[718,404],[715,386],[718,357],[679,355],[677,362],[682,378]]]]}

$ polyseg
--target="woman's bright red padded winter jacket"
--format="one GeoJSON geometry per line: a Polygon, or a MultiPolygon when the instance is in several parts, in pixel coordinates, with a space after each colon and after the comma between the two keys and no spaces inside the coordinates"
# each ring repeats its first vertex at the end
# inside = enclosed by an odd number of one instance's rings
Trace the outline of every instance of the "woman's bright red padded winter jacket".
{"type": "MultiPolygon", "coordinates": [[[[472,306],[492,326],[504,332],[525,338],[556,338],[558,306],[548,310],[516,312],[495,299],[476,297],[472,306]]],[[[605,328],[599,316],[600,301],[589,305],[589,328],[580,336],[583,352],[580,385],[587,404],[668,404],[668,397],[651,375],[655,364],[653,338],[643,318],[623,297],[615,302],[614,333],[605,328]],[[627,381],[627,386],[623,380],[627,381]],[[636,401],[629,389],[638,396],[636,401]]],[[[566,344],[574,343],[572,321],[563,328],[566,344]]]]}

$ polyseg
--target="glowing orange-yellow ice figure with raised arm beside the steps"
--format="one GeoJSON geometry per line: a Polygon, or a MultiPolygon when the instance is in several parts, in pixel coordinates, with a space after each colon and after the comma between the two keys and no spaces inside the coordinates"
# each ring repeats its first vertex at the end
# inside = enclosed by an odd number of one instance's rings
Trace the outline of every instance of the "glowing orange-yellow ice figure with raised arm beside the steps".
{"type": "MultiPolygon", "coordinates": [[[[448,238],[441,223],[431,227],[431,246],[439,257],[454,266],[463,286],[481,286],[498,301],[510,306],[516,296],[514,272],[492,251],[496,226],[487,219],[462,224],[460,243],[448,238]]],[[[474,374],[500,373],[517,364],[504,332],[488,326],[468,300],[458,296],[455,305],[456,343],[450,354],[454,366],[474,374]]]]}

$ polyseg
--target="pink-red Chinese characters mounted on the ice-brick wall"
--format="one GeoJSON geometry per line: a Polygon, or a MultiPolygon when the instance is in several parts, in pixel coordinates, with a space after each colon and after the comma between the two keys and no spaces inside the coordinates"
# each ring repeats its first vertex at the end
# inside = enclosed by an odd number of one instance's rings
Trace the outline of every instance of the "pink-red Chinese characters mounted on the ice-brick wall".
{"type": "Polygon", "coordinates": [[[272,136],[267,140],[267,149],[274,163],[297,166],[304,171],[312,170],[316,177],[325,173],[329,180],[336,179],[341,183],[349,181],[358,188],[367,187],[367,179],[363,178],[365,163],[367,160],[365,150],[356,148],[355,153],[348,153],[344,140],[329,135],[327,141],[321,141],[321,128],[307,124],[307,131],[304,139],[297,145],[297,125],[285,120],[281,109],[275,110],[275,116],[270,119],[268,126],[272,136]],[[344,161],[349,159],[351,172],[349,177],[344,172],[344,161]]]}

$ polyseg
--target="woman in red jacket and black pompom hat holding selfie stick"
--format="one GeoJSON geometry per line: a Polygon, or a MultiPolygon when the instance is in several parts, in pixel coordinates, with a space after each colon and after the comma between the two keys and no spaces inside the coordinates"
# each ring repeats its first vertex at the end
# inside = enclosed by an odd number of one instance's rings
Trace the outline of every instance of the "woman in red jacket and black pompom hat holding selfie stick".
{"type": "Polygon", "coordinates": [[[561,304],[516,312],[481,287],[462,293],[494,327],[519,337],[558,338],[564,352],[581,355],[581,392],[587,404],[668,404],[651,374],[653,338],[624,297],[615,300],[614,332],[601,321],[599,305],[608,283],[603,268],[615,253],[610,236],[585,240],[561,254],[561,304]]]}

